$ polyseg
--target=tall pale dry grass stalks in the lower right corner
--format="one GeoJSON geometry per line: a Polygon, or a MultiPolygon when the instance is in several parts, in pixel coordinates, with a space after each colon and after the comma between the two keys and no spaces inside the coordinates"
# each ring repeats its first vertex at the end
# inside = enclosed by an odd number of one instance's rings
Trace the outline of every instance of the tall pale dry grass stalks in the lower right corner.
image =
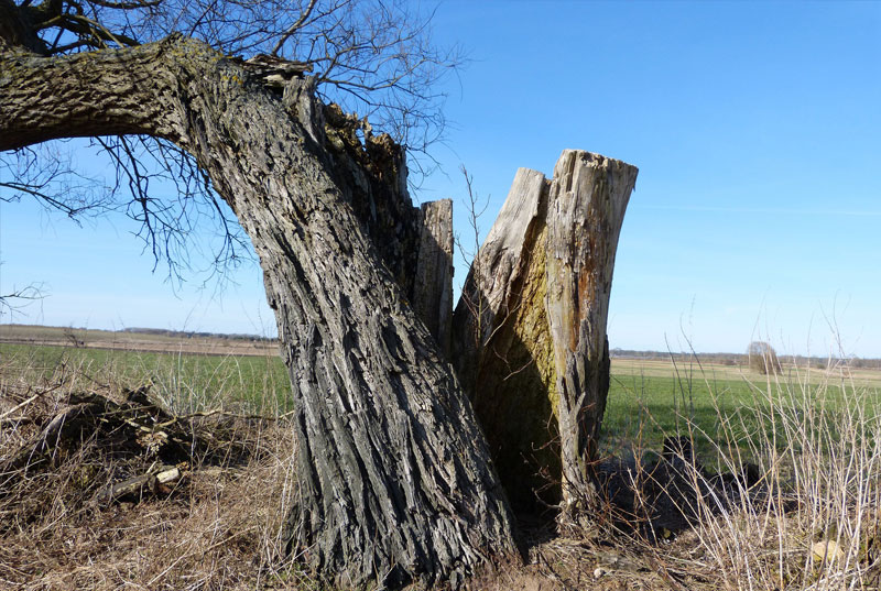
{"type": "Polygon", "coordinates": [[[881,408],[847,368],[841,377],[817,387],[769,380],[754,420],[725,430],[721,457],[746,436],[766,486],[766,499],[743,495],[736,513],[696,530],[726,588],[881,585],[881,408]]]}

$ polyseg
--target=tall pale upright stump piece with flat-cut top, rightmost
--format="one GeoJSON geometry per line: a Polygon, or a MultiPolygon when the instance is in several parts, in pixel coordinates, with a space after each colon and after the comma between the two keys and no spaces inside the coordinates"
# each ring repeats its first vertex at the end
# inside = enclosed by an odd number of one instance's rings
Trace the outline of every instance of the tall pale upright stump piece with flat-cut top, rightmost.
{"type": "Polygon", "coordinates": [[[578,516],[590,490],[609,392],[606,324],[614,254],[637,167],[565,150],[547,206],[547,322],[554,343],[564,511],[578,516]]]}

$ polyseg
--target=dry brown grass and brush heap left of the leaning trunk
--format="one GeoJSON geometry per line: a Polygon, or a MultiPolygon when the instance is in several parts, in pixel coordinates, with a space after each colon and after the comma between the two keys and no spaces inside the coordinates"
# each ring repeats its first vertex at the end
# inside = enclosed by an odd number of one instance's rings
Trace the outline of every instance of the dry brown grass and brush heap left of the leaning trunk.
{"type": "Polygon", "coordinates": [[[48,441],[11,467],[76,396],[102,394],[127,408],[120,392],[96,392],[96,380],[75,373],[29,384],[20,368],[0,371],[0,589],[254,589],[275,577],[269,565],[281,555],[292,497],[291,429],[271,417],[170,415],[187,435],[181,478],[116,499],[107,491],[160,460],[101,428],[48,441]]]}

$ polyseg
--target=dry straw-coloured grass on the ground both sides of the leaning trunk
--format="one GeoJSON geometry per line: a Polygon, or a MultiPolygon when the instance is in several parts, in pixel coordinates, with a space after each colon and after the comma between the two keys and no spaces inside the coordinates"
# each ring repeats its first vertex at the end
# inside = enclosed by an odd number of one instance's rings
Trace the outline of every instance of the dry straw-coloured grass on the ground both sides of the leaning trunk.
{"type": "MultiPolygon", "coordinates": [[[[37,372],[23,380],[20,368],[7,370],[0,365],[0,467],[65,407],[70,393],[119,397],[122,387],[112,375],[96,380],[90,368],[62,365],[39,381],[37,372]]],[[[529,563],[500,566],[471,587],[879,589],[878,393],[850,381],[846,368],[822,379],[795,375],[751,382],[752,404],[718,408],[719,429],[711,435],[686,417],[671,434],[714,450],[709,469],[685,458],[677,464],[692,489],[704,492],[675,497],[688,505],[678,508],[694,527],[677,537],[649,536],[651,528],[632,514],[637,527],[626,530],[609,505],[599,515],[602,527],[579,537],[529,529],[529,563]],[[748,462],[760,473],[758,482],[743,470],[748,462]],[[718,491],[718,473],[730,474],[728,496],[711,492],[718,491]],[[825,543],[825,556],[814,552],[818,543],[825,543]]],[[[193,400],[166,400],[163,391],[156,402],[180,413],[218,404],[210,396],[203,406],[193,400]]],[[[265,408],[272,407],[268,401],[265,408]]],[[[194,440],[206,434],[215,440],[183,467],[185,478],[157,495],[101,501],[100,491],[135,464],[98,438],[58,450],[39,470],[0,469],[0,589],[317,589],[295,569],[278,568],[282,519],[293,502],[290,426],[224,413],[186,420],[194,440]]],[[[641,459],[635,456],[631,472],[635,489],[660,464],[640,466],[641,459]]]]}

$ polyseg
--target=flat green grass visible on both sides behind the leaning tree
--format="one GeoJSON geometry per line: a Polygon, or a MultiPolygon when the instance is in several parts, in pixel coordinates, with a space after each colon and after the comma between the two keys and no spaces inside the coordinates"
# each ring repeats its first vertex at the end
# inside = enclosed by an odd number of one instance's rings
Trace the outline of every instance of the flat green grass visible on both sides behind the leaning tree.
{"type": "MultiPolygon", "coordinates": [[[[96,385],[137,387],[151,383],[151,392],[177,413],[225,409],[278,415],[291,409],[287,372],[276,355],[204,355],[152,353],[73,347],[0,344],[4,380],[26,383],[77,380],[81,388],[96,385]]],[[[611,386],[602,433],[602,449],[620,452],[635,446],[660,449],[665,436],[703,431],[698,451],[708,453],[710,441],[751,437],[758,429],[773,435],[773,423],[759,425],[754,409],[768,404],[768,392],[798,401],[820,395],[834,407],[846,393],[862,388],[881,407],[881,376],[862,372],[812,370],[769,382],[766,376],[737,366],[674,365],[665,361],[613,360],[611,386]],[[848,374],[849,375],[849,374],[848,374]],[[805,397],[807,394],[807,397],[805,397]],[[747,411],[747,412],[743,412],[747,411]],[[732,417],[724,425],[722,417],[732,417]]],[[[742,446],[742,441],[738,444],[742,446]]],[[[743,450],[748,452],[748,450],[743,450]]]]}

